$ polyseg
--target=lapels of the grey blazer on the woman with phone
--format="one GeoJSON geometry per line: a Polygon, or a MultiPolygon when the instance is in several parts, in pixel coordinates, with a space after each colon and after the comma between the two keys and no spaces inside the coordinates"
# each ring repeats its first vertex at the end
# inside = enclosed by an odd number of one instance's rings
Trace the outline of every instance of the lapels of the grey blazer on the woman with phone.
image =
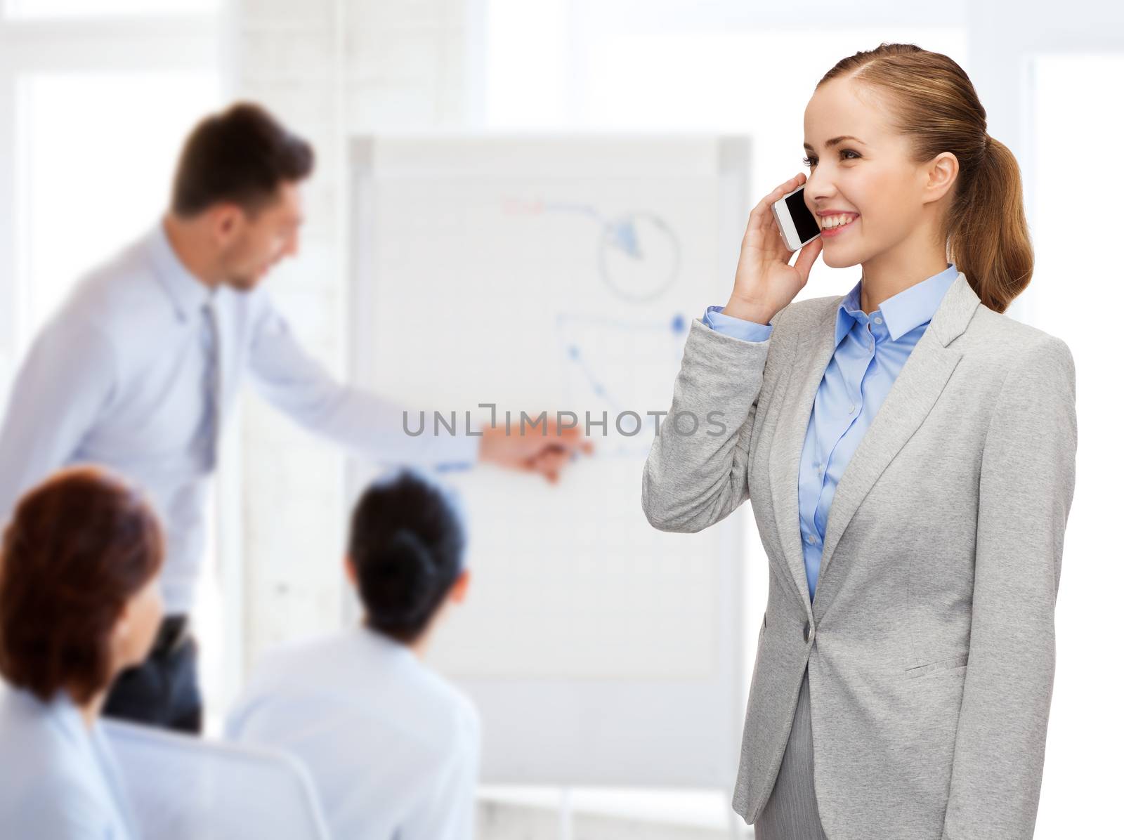
{"type": "Polygon", "coordinates": [[[833,582],[839,574],[826,576],[835,547],[854,517],[862,500],[889,466],[906,441],[924,422],[933,404],[944,390],[949,377],[963,355],[948,345],[968,327],[979,296],[968,284],[964,273],[949,286],[928,327],[901,372],[890,386],[886,400],[863,435],[858,449],[840,478],[827,514],[816,600],[808,594],[807,573],[804,568],[804,549],[800,544],[798,483],[804,439],[812,416],[812,408],[819,390],[827,363],[835,353],[835,312],[843,295],[836,298],[814,329],[801,336],[792,376],[798,385],[790,389],[781,408],[770,451],[770,477],[777,529],[785,551],[785,559],[804,595],[809,614],[819,621],[828,604],[833,582]]]}

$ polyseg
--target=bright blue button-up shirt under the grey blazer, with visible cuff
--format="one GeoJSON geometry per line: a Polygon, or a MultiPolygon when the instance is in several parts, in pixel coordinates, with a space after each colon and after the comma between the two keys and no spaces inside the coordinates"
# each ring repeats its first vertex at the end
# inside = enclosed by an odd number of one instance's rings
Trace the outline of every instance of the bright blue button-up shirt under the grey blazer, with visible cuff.
{"type": "MultiPolygon", "coordinates": [[[[816,391],[800,455],[800,539],[813,599],[835,486],[959,273],[949,263],[940,274],[882,301],[869,316],[860,307],[861,280],[840,302],[835,353],[816,391]]],[[[708,307],[703,322],[745,341],[764,341],[772,335],[771,325],[734,318],[722,310],[708,307]]]]}

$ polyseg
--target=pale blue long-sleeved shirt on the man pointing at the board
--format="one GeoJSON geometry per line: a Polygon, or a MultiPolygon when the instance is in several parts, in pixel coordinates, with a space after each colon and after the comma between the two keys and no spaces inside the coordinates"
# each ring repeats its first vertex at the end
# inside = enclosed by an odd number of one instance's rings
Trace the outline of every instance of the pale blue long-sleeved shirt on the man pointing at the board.
{"type": "Polygon", "coordinates": [[[0,523],[60,467],[119,472],[164,521],[161,588],[169,612],[188,612],[217,438],[246,378],[298,423],[361,456],[438,469],[479,457],[480,432],[461,424],[455,436],[407,435],[406,407],[332,376],[264,286],[211,291],[157,223],[76,284],[24,359],[0,427],[0,523]]]}

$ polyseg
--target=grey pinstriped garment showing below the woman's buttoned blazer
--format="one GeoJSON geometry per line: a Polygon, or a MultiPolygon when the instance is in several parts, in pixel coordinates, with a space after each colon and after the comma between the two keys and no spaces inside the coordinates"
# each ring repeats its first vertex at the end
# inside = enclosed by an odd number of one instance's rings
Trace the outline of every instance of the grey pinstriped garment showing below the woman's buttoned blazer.
{"type": "Polygon", "coordinates": [[[755,840],[827,840],[819,823],[812,759],[812,699],[806,666],[777,782],[753,823],[755,840]]]}

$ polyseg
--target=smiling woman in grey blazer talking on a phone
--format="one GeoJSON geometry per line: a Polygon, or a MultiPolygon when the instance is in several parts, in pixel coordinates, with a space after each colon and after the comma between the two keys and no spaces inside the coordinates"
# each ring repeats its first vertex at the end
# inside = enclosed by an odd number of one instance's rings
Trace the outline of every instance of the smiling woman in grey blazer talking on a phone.
{"type": "Polygon", "coordinates": [[[1018,167],[914,45],[841,61],[804,129],[643,475],[661,530],[749,499],[768,556],[733,805],[758,840],[1028,839],[1077,420],[1068,346],[1001,314],[1033,266],[1018,167]],[[790,266],[770,204],[800,184],[824,234],[790,266]],[[861,279],[794,302],[821,253],[861,279]]]}

